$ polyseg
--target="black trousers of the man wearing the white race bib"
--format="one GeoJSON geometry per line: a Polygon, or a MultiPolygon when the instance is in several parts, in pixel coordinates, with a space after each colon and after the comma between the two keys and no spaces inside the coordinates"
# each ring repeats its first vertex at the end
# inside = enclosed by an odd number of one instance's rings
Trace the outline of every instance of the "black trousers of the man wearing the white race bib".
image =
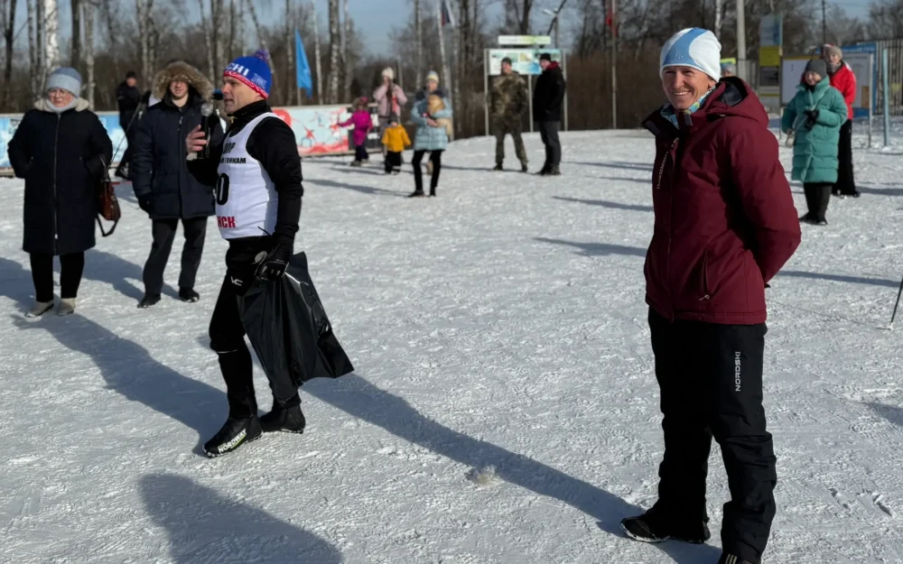
{"type": "MultiPolygon", "coordinates": [[[[219,369],[226,383],[228,412],[232,419],[247,419],[257,414],[254,366],[245,344],[245,328],[241,324],[237,299],[255,282],[261,254],[269,253],[273,246],[273,240],[266,236],[229,241],[226,277],[210,318],[210,348],[219,355],[219,369]]],[[[291,374],[267,376],[274,402],[285,407],[301,404],[298,388],[294,385],[291,374]]]]}

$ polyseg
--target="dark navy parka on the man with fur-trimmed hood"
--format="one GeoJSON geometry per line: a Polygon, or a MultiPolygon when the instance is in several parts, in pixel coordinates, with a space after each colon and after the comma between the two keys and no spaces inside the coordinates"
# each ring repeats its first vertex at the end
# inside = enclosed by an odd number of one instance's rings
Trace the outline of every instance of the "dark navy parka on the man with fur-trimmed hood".
{"type": "MultiPolygon", "coordinates": [[[[202,184],[188,171],[185,137],[200,125],[203,99],[191,90],[183,107],[169,97],[148,108],[135,131],[132,186],[138,199],[150,195],[152,219],[209,217],[214,214],[213,185],[202,184]]],[[[219,118],[213,119],[213,143],[223,136],[219,118]]]]}

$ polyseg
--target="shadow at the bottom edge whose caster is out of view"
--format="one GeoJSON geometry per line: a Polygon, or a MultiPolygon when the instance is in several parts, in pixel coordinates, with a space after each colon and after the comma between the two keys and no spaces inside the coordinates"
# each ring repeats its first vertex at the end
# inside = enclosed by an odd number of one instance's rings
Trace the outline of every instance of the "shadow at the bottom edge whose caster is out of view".
{"type": "Polygon", "coordinates": [[[175,564],[340,564],[336,547],[312,532],[197,485],[156,474],[141,478],[144,508],[169,534],[175,564]]]}

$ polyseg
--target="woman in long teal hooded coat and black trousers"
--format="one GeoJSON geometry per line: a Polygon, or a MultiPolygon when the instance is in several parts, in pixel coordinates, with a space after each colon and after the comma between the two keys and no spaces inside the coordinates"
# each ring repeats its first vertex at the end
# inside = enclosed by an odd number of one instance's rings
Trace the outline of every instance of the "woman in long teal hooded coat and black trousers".
{"type": "Polygon", "coordinates": [[[846,119],[846,102],[831,86],[824,60],[810,60],[781,120],[781,129],[793,138],[791,178],[803,182],[808,211],[799,220],[804,223],[828,223],[824,216],[837,181],[837,143],[846,119]]]}

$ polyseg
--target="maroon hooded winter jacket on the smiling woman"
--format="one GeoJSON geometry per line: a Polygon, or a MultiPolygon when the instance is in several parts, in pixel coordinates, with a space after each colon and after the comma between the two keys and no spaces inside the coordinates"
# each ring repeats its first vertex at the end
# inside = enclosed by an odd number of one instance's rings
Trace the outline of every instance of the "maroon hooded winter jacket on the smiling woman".
{"type": "Polygon", "coordinates": [[[753,325],[765,284],[800,241],[768,115],[741,79],[723,79],[679,129],[656,111],[655,232],[646,300],[666,319],[753,325]]]}

